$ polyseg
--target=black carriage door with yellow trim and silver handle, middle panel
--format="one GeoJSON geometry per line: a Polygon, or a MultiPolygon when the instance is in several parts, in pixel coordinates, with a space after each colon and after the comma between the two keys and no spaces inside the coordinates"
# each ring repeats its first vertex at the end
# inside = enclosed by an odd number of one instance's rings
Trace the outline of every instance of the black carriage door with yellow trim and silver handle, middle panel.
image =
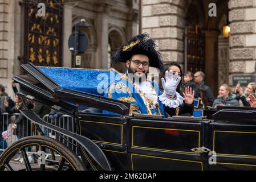
{"type": "Polygon", "coordinates": [[[131,120],[132,170],[203,170],[200,122],[131,120]]]}

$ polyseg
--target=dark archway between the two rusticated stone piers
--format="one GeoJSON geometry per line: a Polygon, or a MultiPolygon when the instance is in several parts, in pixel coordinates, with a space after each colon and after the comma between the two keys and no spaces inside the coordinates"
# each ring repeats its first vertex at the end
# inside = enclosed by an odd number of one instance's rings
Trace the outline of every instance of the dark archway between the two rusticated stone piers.
{"type": "MultiPolygon", "coordinates": [[[[228,72],[228,57],[222,56],[222,64],[218,65],[221,48],[228,47],[228,40],[222,39],[223,16],[229,11],[227,0],[192,0],[185,7],[186,10],[186,30],[192,31],[190,40],[189,32],[185,32],[185,70],[205,73],[205,82],[210,86],[214,96],[218,95],[220,82],[228,84],[228,80],[223,78],[228,72]],[[216,3],[217,16],[209,16],[209,4],[216,3]],[[190,42],[189,42],[190,41],[190,42]],[[222,41],[223,44],[219,44],[222,41]],[[203,60],[203,61],[202,61],[203,60]],[[191,64],[189,64],[189,61],[191,64]],[[192,68],[193,67],[193,68],[192,68]],[[225,71],[224,71],[225,70],[225,71]],[[218,76],[221,72],[221,77],[218,76]],[[225,72],[225,73],[224,73],[225,72]]],[[[227,23],[227,20],[226,22],[227,23]]],[[[224,53],[225,55],[226,53],[224,53]]]]}

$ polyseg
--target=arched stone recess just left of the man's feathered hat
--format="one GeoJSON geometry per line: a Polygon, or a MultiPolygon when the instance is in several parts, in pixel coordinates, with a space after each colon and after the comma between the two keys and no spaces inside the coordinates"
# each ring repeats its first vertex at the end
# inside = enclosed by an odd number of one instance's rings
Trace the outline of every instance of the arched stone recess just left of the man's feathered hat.
{"type": "Polygon", "coordinates": [[[108,31],[108,68],[113,67],[119,72],[125,72],[126,67],[124,63],[111,65],[111,57],[116,53],[117,49],[125,43],[126,36],[122,28],[117,26],[110,26],[108,31]]]}

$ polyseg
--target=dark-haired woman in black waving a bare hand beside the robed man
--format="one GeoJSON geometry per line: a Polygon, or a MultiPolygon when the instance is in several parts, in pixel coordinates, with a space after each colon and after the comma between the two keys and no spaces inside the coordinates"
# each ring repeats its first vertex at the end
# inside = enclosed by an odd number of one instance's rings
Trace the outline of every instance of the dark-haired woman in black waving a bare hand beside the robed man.
{"type": "MultiPolygon", "coordinates": [[[[178,64],[175,61],[170,61],[166,64],[164,64],[164,70],[160,73],[160,78],[165,76],[166,71],[172,71],[173,76],[178,73],[178,76],[182,77],[182,69],[180,64],[178,64]]],[[[160,85],[160,88],[164,90],[163,88],[163,83],[160,85]]],[[[178,84],[176,88],[176,92],[179,93],[181,96],[184,97],[184,101],[176,108],[171,107],[171,106],[165,106],[164,105],[164,110],[170,117],[173,115],[193,115],[194,111],[194,90],[192,91],[192,87],[186,86],[184,89],[184,92],[181,92],[181,82],[178,84]]]]}

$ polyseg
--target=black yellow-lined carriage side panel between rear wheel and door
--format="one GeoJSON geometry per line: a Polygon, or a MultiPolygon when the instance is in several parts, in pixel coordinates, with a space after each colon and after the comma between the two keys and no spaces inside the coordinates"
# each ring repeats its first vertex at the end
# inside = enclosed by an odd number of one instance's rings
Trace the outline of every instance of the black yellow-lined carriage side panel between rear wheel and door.
{"type": "Polygon", "coordinates": [[[76,114],[79,134],[95,142],[114,170],[129,170],[127,119],[116,115],[76,114]]]}

